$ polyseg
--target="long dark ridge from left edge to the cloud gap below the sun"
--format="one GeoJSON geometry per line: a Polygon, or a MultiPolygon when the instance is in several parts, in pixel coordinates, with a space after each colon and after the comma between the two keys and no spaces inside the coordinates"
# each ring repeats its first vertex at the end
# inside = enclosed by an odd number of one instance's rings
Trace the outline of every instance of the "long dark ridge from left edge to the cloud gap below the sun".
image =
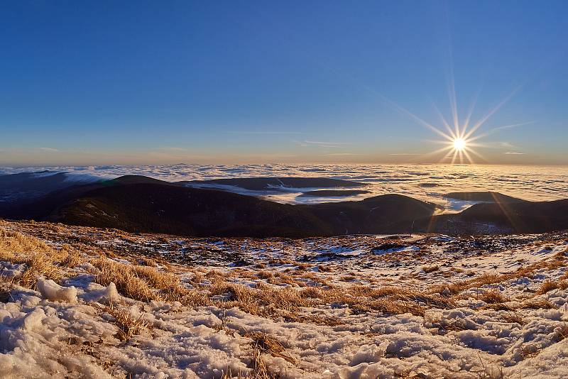
{"type": "Polygon", "coordinates": [[[121,177],[62,189],[4,216],[185,236],[332,236],[398,231],[436,208],[400,195],[362,202],[279,204],[148,179],[121,177]],[[393,229],[393,224],[400,226],[393,229]]]}

